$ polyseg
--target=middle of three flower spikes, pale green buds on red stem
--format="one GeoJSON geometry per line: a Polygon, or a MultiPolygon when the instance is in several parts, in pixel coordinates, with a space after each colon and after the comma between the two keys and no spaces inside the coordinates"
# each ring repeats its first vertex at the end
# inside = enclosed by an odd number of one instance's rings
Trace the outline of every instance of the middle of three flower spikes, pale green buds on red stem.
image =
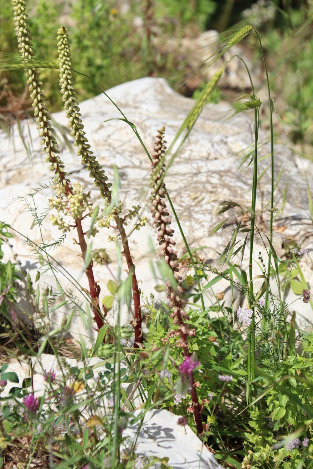
{"type": "MultiPolygon", "coordinates": [[[[107,176],[99,165],[97,159],[93,156],[90,150],[90,145],[85,136],[84,125],[80,119],[81,113],[78,106],[78,99],[74,87],[72,78],[72,62],[71,53],[69,47],[69,35],[64,27],[58,30],[58,51],[59,51],[59,67],[60,67],[60,86],[61,93],[63,94],[62,100],[66,110],[66,115],[69,119],[69,127],[72,129],[71,136],[75,136],[75,146],[78,147],[77,155],[81,157],[81,163],[86,165],[86,170],[89,171],[90,177],[94,181],[94,185],[100,189],[100,194],[104,199],[105,205],[109,205],[111,202],[111,190],[112,184],[107,182],[107,176]]],[[[130,211],[131,214],[134,211],[130,211]]],[[[124,256],[127,262],[129,274],[132,279],[132,292],[134,301],[134,321],[131,324],[135,331],[135,346],[140,344],[143,340],[142,328],[141,328],[141,307],[140,307],[140,293],[138,288],[138,282],[135,273],[135,265],[130,254],[130,248],[128,244],[128,237],[125,233],[124,224],[126,224],[126,217],[121,217],[121,207],[113,207],[110,214],[110,218],[115,220],[116,227],[120,233],[122,241],[124,256]]],[[[140,220],[142,221],[142,219],[140,220]]],[[[99,226],[109,226],[103,219],[97,217],[99,226]]],[[[145,223],[142,221],[141,225],[145,223]]]]}

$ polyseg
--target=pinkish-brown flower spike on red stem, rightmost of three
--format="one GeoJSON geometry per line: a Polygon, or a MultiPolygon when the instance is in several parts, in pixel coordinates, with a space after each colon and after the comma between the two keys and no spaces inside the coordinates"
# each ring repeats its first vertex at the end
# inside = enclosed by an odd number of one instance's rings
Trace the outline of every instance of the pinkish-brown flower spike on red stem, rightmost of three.
{"type": "MultiPolygon", "coordinates": [[[[178,264],[177,264],[177,252],[174,249],[175,241],[173,240],[173,233],[169,225],[171,219],[167,212],[165,204],[165,185],[164,180],[160,179],[164,171],[164,154],[165,154],[165,140],[164,140],[165,127],[163,126],[158,130],[158,135],[156,136],[156,146],[154,148],[155,153],[153,154],[153,163],[152,163],[152,173],[151,173],[151,195],[152,195],[152,217],[154,219],[154,224],[158,229],[157,240],[161,246],[161,251],[159,256],[164,259],[167,265],[170,267],[174,274],[174,278],[177,282],[177,285],[172,285],[168,280],[166,283],[167,286],[167,296],[169,299],[169,308],[173,309],[170,317],[173,318],[173,323],[178,325],[178,331],[176,334],[180,335],[180,339],[177,342],[179,347],[183,348],[183,357],[184,365],[188,365],[192,362],[191,354],[188,345],[188,338],[193,337],[196,333],[195,328],[190,329],[188,324],[184,323],[184,320],[189,320],[185,312],[186,301],[183,298],[183,288],[179,285],[179,282],[182,280],[178,274],[178,264]]],[[[172,333],[171,335],[174,335],[172,333]]],[[[193,363],[193,362],[192,362],[193,363]]],[[[183,366],[185,370],[186,366],[183,366]]],[[[197,364],[198,366],[198,364],[197,364]]],[[[201,409],[198,402],[198,396],[195,386],[195,380],[193,377],[193,369],[195,366],[188,368],[189,379],[191,384],[191,399],[192,399],[192,412],[194,415],[194,420],[197,427],[198,434],[203,432],[203,425],[201,419],[201,409]]]]}

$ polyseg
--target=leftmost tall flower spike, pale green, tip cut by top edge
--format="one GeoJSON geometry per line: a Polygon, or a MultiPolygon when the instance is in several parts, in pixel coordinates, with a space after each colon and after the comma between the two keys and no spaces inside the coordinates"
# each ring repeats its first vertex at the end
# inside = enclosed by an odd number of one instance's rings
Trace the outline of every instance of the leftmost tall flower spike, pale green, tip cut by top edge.
{"type": "MultiPolygon", "coordinates": [[[[31,42],[31,34],[27,20],[28,15],[26,14],[26,4],[23,0],[13,0],[13,6],[18,48],[22,58],[31,60],[35,53],[33,52],[33,45],[31,42]]],[[[34,107],[34,116],[36,117],[36,122],[38,123],[37,129],[39,130],[39,136],[41,137],[41,145],[43,146],[43,151],[46,153],[46,161],[50,163],[49,169],[55,174],[54,190],[59,198],[56,201],[53,201],[52,204],[60,206],[60,209],[65,209],[65,203],[62,202],[62,197],[64,196],[65,199],[74,202],[72,204],[72,208],[76,208],[77,206],[81,205],[82,200],[84,202],[86,197],[88,198],[88,195],[84,195],[82,196],[82,199],[80,199],[81,194],[80,196],[77,196],[75,191],[73,191],[68,174],[64,169],[64,164],[58,156],[60,151],[57,148],[57,143],[53,136],[54,130],[50,123],[51,117],[46,108],[45,95],[42,89],[42,83],[39,81],[38,70],[35,68],[28,68],[26,71],[26,76],[28,77],[28,83],[30,83],[29,90],[31,91],[31,99],[33,100],[32,106],[34,107]]],[[[87,244],[84,238],[84,231],[79,215],[79,212],[74,211],[72,216],[74,218],[75,227],[77,229],[79,240],[78,244],[80,246],[82,256],[85,258],[87,244]]],[[[59,219],[59,216],[53,217],[53,224],[65,229],[69,229],[69,225],[65,224],[63,219],[59,219]]],[[[86,276],[89,283],[94,318],[98,328],[100,328],[103,325],[103,319],[99,310],[100,287],[94,280],[92,262],[86,269],[86,276]]]]}

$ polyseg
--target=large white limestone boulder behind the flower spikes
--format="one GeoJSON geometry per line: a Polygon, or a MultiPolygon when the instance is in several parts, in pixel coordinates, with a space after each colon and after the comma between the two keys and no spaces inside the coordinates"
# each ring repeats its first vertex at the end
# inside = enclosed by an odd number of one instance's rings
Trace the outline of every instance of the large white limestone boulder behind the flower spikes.
{"type": "MultiPolygon", "coordinates": [[[[145,143],[149,153],[153,154],[153,147],[157,129],[164,124],[166,126],[165,139],[168,145],[176,135],[188,111],[193,105],[193,100],[184,98],[173,91],[168,83],[161,78],[142,78],[129,83],[123,83],[107,94],[122,109],[126,117],[137,126],[137,130],[145,143]]],[[[122,188],[120,198],[123,201],[125,212],[132,205],[140,203],[143,207],[143,215],[150,220],[148,225],[135,231],[130,236],[130,250],[134,256],[137,279],[140,288],[146,296],[154,294],[155,299],[159,294],[154,287],[161,283],[160,279],[154,279],[150,270],[150,258],[157,258],[158,246],[156,243],[156,231],[151,219],[148,206],[150,194],[149,175],[151,163],[137,140],[132,129],[121,120],[104,122],[111,118],[120,118],[121,114],[105,95],[89,99],[81,103],[81,113],[86,131],[86,136],[91,144],[91,149],[104,167],[110,182],[114,182],[114,165],[117,165],[121,178],[122,188]],[[156,253],[150,252],[149,238],[153,240],[156,253]]],[[[215,217],[218,201],[221,199],[235,200],[242,205],[250,205],[252,164],[245,168],[250,160],[240,166],[240,155],[253,150],[253,111],[235,116],[231,121],[226,121],[230,107],[225,105],[207,104],[191,134],[177,156],[174,165],[168,170],[165,182],[168,193],[172,199],[176,213],[181,222],[183,232],[191,248],[205,246],[199,252],[204,260],[216,257],[216,250],[222,251],[229,241],[232,230],[235,228],[235,220],[225,226],[218,233],[209,237],[208,234],[216,223],[224,219],[224,216],[215,217]],[[224,122],[222,125],[221,122],[224,122]]],[[[65,113],[53,114],[53,119],[60,126],[67,126],[65,113]]],[[[32,227],[32,219],[22,199],[8,205],[15,196],[23,197],[31,191],[48,184],[53,174],[49,172],[45,162],[45,155],[41,152],[36,124],[32,121],[22,122],[22,132],[30,147],[31,162],[25,152],[22,139],[16,126],[12,129],[11,139],[0,132],[0,219],[11,224],[17,232],[27,235],[32,241],[40,243],[41,235],[38,227],[32,227]]],[[[60,132],[58,132],[60,137],[60,132]]],[[[259,176],[257,191],[257,211],[269,207],[270,201],[270,146],[267,136],[260,131],[260,142],[264,145],[259,151],[259,176]],[[264,173],[264,174],[263,174],[264,173]]],[[[87,191],[92,191],[92,200],[101,206],[101,200],[97,190],[86,171],[80,165],[80,159],[72,154],[63,144],[61,159],[65,162],[66,169],[72,173],[72,181],[84,183],[87,191]]],[[[312,222],[309,217],[309,205],[305,175],[312,174],[313,164],[305,161],[301,165],[301,159],[295,158],[292,152],[283,145],[275,145],[275,181],[279,179],[275,189],[274,204],[282,208],[282,212],[275,214],[274,222],[274,247],[278,256],[282,256],[282,242],[287,238],[293,238],[301,247],[309,249],[309,253],[303,257],[300,265],[303,268],[305,280],[309,287],[312,285],[312,222]],[[304,169],[305,168],[305,169],[304,169]],[[282,174],[281,174],[282,171],[282,174]]],[[[310,177],[308,180],[311,181],[310,177]]],[[[310,183],[311,184],[311,183],[310,183]]],[[[310,185],[311,188],[311,185],[310,185]]],[[[38,213],[42,213],[47,207],[47,198],[53,195],[48,187],[36,194],[34,201],[38,213]]],[[[29,199],[29,202],[31,200],[29,199]]],[[[169,208],[169,206],[168,206],[169,208]]],[[[54,242],[60,238],[61,232],[51,226],[48,218],[44,219],[42,234],[46,242],[54,242]]],[[[269,213],[264,212],[256,221],[262,234],[269,235],[269,213]]],[[[85,220],[86,230],[89,227],[89,219],[85,220]]],[[[178,255],[183,251],[183,242],[173,217],[173,227],[176,231],[174,238],[177,242],[178,255]]],[[[127,227],[129,230],[131,226],[127,227]]],[[[35,279],[38,269],[38,256],[34,250],[26,245],[22,236],[15,233],[12,242],[14,252],[21,259],[35,279]]],[[[127,231],[129,232],[129,231],[127,231]]],[[[101,232],[92,239],[93,248],[106,248],[112,259],[111,271],[116,274],[115,246],[107,241],[108,234],[115,234],[107,230],[101,232]]],[[[61,264],[79,282],[79,285],[88,288],[84,273],[82,272],[82,259],[77,256],[79,250],[73,245],[72,238],[76,233],[69,234],[64,244],[58,250],[51,251],[51,256],[61,264]]],[[[263,238],[265,239],[264,235],[263,238]]],[[[258,259],[258,253],[266,262],[266,250],[260,240],[255,236],[254,259],[258,259]]],[[[7,255],[10,251],[7,251],[7,255]]],[[[244,257],[243,267],[248,265],[248,252],[244,257]]],[[[12,258],[12,257],[11,257],[12,258]]],[[[12,260],[14,260],[12,258],[12,260]]],[[[123,265],[123,269],[126,265],[123,265]]],[[[105,267],[95,266],[95,278],[99,280],[102,295],[107,295],[107,280],[111,278],[105,267]]],[[[253,275],[262,273],[254,263],[253,275]]],[[[73,288],[70,280],[56,272],[56,276],[63,287],[73,288]]],[[[122,272],[123,278],[126,273],[122,272]]],[[[212,277],[211,277],[212,278],[212,277]]],[[[51,272],[46,276],[42,274],[39,280],[40,287],[55,285],[51,272]]],[[[75,285],[74,285],[75,286],[75,285]]],[[[227,283],[218,283],[214,291],[218,292],[227,287],[227,283]]],[[[35,285],[36,287],[36,285],[35,285]]],[[[79,290],[74,289],[79,295],[79,290]]],[[[164,298],[164,296],[163,296],[164,298]]],[[[288,296],[286,301],[297,298],[288,296]]],[[[101,298],[100,298],[101,299],[101,298]]],[[[84,300],[84,299],[83,299],[84,300]]],[[[84,300],[85,301],[85,300],[84,300]]],[[[208,301],[207,304],[210,304],[208,301]]],[[[298,311],[298,318],[313,318],[309,304],[296,302],[292,309],[298,311]]],[[[51,321],[54,325],[60,325],[63,314],[69,314],[70,310],[58,314],[53,313],[51,321]]],[[[114,320],[114,318],[111,318],[114,320]]],[[[124,312],[122,322],[129,320],[128,312],[124,312]]],[[[73,321],[70,332],[79,338],[85,334],[86,340],[93,334],[92,329],[86,329],[79,316],[73,321]],[[76,322],[75,322],[76,321],[76,322]]]]}

